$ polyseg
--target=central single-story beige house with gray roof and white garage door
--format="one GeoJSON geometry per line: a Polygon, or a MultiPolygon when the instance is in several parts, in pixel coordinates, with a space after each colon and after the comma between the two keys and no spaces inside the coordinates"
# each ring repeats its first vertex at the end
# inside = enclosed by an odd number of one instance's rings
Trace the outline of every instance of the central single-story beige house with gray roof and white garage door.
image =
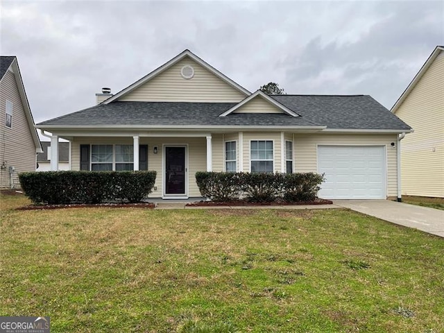
{"type": "Polygon", "coordinates": [[[411,128],[370,96],[252,94],[185,50],[96,97],[37,128],[71,141],[73,170],[157,171],[150,197],[199,197],[196,171],[314,171],[322,198],[400,194],[398,138],[411,128]]]}

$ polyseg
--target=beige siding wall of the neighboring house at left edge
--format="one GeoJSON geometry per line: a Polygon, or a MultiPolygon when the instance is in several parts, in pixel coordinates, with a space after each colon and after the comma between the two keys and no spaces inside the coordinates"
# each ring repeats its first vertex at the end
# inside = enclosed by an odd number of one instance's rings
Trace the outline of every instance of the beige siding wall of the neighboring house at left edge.
{"type": "Polygon", "coordinates": [[[35,143],[31,135],[25,110],[15,80],[15,74],[7,71],[0,83],[0,188],[10,188],[9,167],[14,167],[12,187],[20,187],[18,174],[35,171],[35,143]],[[6,100],[13,103],[12,128],[5,126],[6,100]]]}

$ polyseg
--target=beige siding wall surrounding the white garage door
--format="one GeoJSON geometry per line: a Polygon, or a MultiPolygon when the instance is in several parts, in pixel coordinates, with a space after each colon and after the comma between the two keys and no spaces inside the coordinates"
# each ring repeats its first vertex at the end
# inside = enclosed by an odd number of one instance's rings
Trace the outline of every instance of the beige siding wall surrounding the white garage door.
{"type": "Polygon", "coordinates": [[[296,172],[317,172],[317,145],[364,145],[386,146],[387,161],[387,196],[397,195],[396,135],[356,135],[356,134],[295,134],[294,135],[294,168],[296,172]]]}

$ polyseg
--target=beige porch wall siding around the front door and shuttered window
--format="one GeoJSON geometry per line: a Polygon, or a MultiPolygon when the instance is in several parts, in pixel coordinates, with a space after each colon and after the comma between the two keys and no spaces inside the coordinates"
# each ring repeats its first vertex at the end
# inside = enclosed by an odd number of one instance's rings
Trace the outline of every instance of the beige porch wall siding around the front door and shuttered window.
{"type": "MultiPolygon", "coordinates": [[[[75,137],[72,142],[72,169],[80,169],[80,144],[133,144],[132,137],[75,137]]],[[[140,137],[139,144],[148,144],[148,170],[157,171],[155,180],[156,191],[149,195],[150,198],[162,196],[163,171],[163,145],[171,146],[187,145],[188,160],[188,186],[189,196],[200,196],[196,184],[196,172],[207,170],[207,141],[205,137],[140,137]],[[157,154],[153,152],[157,146],[157,154]]]]}

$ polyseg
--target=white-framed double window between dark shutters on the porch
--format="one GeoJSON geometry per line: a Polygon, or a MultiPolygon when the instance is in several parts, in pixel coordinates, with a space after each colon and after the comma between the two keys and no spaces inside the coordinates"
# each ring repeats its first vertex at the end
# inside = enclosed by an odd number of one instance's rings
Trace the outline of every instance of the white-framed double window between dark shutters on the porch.
{"type": "Polygon", "coordinates": [[[134,169],[132,144],[92,144],[92,171],[131,171],[134,169]]]}

